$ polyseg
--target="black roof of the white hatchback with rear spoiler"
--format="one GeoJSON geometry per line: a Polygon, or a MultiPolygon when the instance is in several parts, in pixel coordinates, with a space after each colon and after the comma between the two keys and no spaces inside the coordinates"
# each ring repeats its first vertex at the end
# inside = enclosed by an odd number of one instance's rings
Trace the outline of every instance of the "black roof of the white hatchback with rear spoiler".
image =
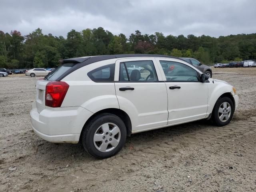
{"type": "Polygon", "coordinates": [[[120,55],[100,55],[100,56],[86,56],[86,57],[76,57],[76,58],[69,58],[69,59],[62,59],[59,60],[60,63],[68,63],[68,62],[75,62],[75,63],[84,63],[85,65],[109,60],[114,58],[127,58],[127,57],[162,57],[162,58],[175,58],[184,61],[182,58],[168,56],[168,55],[157,55],[157,54],[120,54],[120,55]]]}

